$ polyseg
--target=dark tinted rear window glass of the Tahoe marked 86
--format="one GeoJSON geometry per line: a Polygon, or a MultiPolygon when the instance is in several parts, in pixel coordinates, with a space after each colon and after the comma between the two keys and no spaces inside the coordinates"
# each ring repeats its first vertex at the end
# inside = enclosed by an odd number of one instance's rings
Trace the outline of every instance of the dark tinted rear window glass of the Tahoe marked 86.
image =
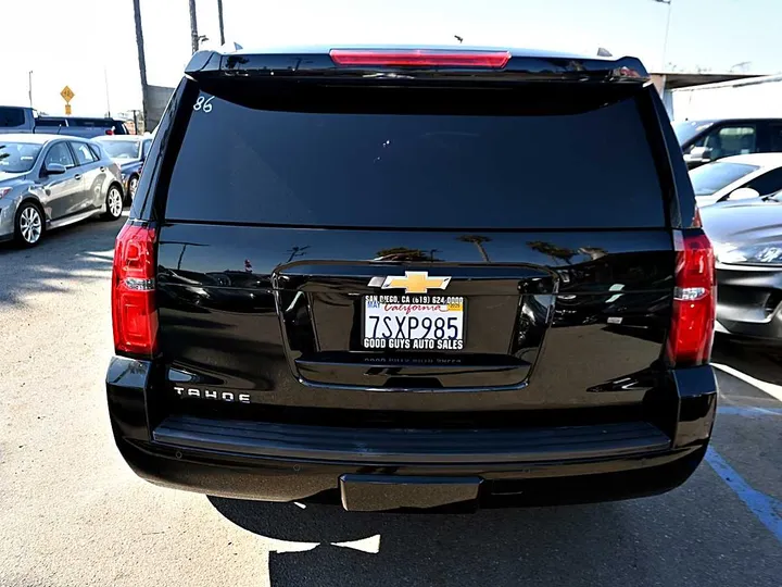
{"type": "Polygon", "coordinates": [[[193,110],[187,108],[190,121],[168,186],[172,220],[431,228],[665,225],[634,99],[535,115],[506,108],[492,115],[489,103],[485,114],[472,109],[458,115],[287,111],[279,104],[263,110],[202,92],[193,110]]]}

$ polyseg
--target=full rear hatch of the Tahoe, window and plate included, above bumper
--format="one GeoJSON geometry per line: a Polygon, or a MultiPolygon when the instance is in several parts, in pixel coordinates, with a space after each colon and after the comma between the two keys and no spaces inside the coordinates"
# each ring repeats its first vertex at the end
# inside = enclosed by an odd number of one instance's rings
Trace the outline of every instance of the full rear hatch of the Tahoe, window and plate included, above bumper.
{"type": "Polygon", "coordinates": [[[640,66],[307,59],[203,58],[174,98],[138,202],[164,414],[641,417],[674,251],[640,66]]]}

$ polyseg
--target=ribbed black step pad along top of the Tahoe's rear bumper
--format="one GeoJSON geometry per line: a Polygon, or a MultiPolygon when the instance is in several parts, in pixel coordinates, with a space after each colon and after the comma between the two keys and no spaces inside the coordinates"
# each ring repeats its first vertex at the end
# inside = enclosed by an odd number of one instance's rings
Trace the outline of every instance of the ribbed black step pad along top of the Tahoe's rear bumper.
{"type": "Polygon", "coordinates": [[[171,416],[153,432],[161,446],[288,461],[356,465],[478,466],[653,454],[670,438],[646,422],[528,429],[388,429],[301,426],[171,416]]]}

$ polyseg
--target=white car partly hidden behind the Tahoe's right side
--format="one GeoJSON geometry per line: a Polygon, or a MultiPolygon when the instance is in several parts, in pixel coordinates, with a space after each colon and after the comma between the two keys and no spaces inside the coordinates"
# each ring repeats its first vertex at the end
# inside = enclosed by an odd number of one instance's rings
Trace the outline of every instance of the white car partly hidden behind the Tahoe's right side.
{"type": "Polygon", "coordinates": [[[782,153],[727,157],[690,172],[699,208],[767,196],[782,189],[782,153]]]}

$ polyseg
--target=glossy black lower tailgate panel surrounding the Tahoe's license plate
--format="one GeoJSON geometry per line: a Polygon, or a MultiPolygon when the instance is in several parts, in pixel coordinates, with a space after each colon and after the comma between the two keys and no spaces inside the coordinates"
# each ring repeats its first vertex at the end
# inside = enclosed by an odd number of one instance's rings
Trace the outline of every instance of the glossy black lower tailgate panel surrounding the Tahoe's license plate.
{"type": "MultiPolygon", "coordinates": [[[[465,241],[464,236],[450,232],[163,226],[157,259],[160,348],[162,360],[172,370],[169,394],[175,384],[190,384],[247,392],[252,402],[263,404],[416,411],[563,409],[643,400],[658,376],[654,365],[660,359],[670,320],[673,251],[669,234],[487,233],[477,239],[479,246],[475,240],[465,241]],[[312,261],[293,261],[292,251],[297,250],[305,250],[312,261]],[[398,251],[398,261],[367,261],[388,250],[398,251]],[[434,263],[416,257],[431,250],[439,251],[434,263]],[[404,253],[399,251],[409,251],[414,261],[403,262],[404,253]],[[330,260],[329,264],[317,264],[319,259],[330,260]],[[340,263],[351,261],[353,265],[348,266],[353,273],[346,275],[340,263]],[[321,275],[313,276],[313,267],[321,275]],[[350,364],[356,361],[355,353],[348,352],[356,350],[351,348],[350,328],[345,328],[356,317],[350,296],[367,292],[369,278],[377,273],[411,268],[453,275],[449,294],[467,297],[468,322],[470,312],[484,319],[492,311],[504,312],[504,322],[468,324],[472,348],[467,350],[489,357],[461,355],[454,365],[487,370],[467,384],[480,388],[480,394],[366,391],[386,387],[390,378],[368,371],[398,365],[350,364]],[[290,277],[286,289],[278,288],[277,297],[272,287],[276,274],[290,277]],[[516,279],[509,282],[509,276],[516,279]],[[280,321],[277,309],[290,307],[293,292],[302,287],[299,282],[306,284],[304,298],[310,301],[302,301],[299,324],[293,326],[287,317],[280,321]],[[529,294],[521,296],[518,284],[528,287],[529,294]],[[535,326],[531,320],[524,333],[515,329],[530,346],[514,355],[509,353],[510,330],[517,316],[510,309],[518,308],[519,299],[527,299],[528,305],[538,302],[541,324],[535,326]],[[348,322],[311,317],[321,304],[343,302],[348,322]],[[545,349],[534,379],[527,382],[543,338],[545,349]],[[340,351],[345,351],[342,357],[340,351]],[[470,363],[470,359],[479,362],[470,363]],[[352,389],[321,389],[316,384],[333,382],[315,374],[318,363],[337,365],[338,378],[352,389]],[[516,374],[507,375],[507,371],[516,374]],[[633,380],[611,388],[614,382],[630,375],[633,380]],[[356,379],[366,380],[363,389],[356,379]],[[492,391],[492,387],[503,390],[492,391]]],[[[442,372],[442,367],[432,369],[442,372]]],[[[450,387],[441,378],[430,384],[421,391],[450,387]]],[[[399,386],[392,382],[389,387],[399,386]]]]}

